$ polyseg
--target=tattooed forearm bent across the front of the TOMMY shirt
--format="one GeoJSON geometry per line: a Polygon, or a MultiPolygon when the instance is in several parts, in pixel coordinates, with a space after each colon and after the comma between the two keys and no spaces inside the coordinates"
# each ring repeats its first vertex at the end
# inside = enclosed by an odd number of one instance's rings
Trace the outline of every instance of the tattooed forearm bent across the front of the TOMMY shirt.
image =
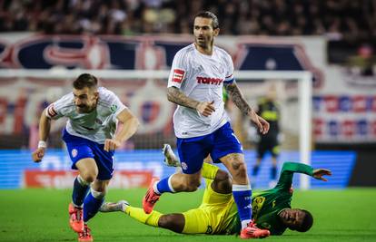
{"type": "Polygon", "coordinates": [[[214,102],[198,102],[186,96],[176,87],[167,88],[167,99],[170,102],[196,110],[205,117],[210,116],[213,111],[215,111],[213,106],[214,102]]]}

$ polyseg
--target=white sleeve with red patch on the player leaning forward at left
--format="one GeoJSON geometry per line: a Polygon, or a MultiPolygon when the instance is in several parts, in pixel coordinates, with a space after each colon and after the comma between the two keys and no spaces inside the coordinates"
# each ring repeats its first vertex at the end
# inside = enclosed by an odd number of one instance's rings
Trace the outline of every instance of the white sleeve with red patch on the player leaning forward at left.
{"type": "Polygon", "coordinates": [[[58,120],[64,117],[72,106],[74,106],[73,94],[69,93],[48,105],[45,109],[45,115],[52,120],[58,120]]]}

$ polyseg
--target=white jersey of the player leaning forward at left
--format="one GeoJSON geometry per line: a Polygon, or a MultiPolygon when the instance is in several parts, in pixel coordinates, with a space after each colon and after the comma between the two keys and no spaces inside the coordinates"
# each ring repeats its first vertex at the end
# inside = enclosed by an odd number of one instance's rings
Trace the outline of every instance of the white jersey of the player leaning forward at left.
{"type": "Polygon", "coordinates": [[[46,116],[57,120],[62,117],[66,121],[66,131],[74,136],[93,140],[103,144],[105,139],[112,139],[116,131],[116,116],[126,109],[123,102],[104,87],[98,88],[99,98],[96,109],[89,113],[79,113],[74,105],[74,94],[70,92],[46,109],[46,116]]]}

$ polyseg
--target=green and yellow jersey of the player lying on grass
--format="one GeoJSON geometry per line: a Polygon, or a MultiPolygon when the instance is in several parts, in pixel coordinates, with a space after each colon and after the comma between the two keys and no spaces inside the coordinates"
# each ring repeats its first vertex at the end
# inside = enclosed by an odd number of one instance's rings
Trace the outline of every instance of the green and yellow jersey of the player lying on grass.
{"type": "MultiPolygon", "coordinates": [[[[293,173],[304,173],[312,176],[312,167],[295,162],[285,162],[282,166],[280,179],[273,189],[255,192],[252,195],[252,218],[257,227],[266,228],[272,235],[282,235],[286,226],[282,224],[278,214],[284,208],[291,208],[293,173]]],[[[231,232],[239,233],[241,223],[238,216],[233,216],[231,232]]]]}

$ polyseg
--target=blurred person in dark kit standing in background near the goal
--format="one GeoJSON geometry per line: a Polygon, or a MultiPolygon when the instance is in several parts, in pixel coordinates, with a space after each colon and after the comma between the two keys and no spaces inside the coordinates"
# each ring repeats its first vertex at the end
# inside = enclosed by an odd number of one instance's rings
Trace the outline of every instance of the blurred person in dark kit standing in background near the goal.
{"type": "Polygon", "coordinates": [[[281,113],[278,103],[276,102],[277,90],[276,86],[271,84],[266,96],[259,100],[257,114],[270,124],[267,134],[262,135],[258,132],[257,141],[257,159],[252,169],[252,176],[259,174],[260,165],[265,154],[269,151],[272,154],[272,169],[270,187],[273,188],[277,184],[277,157],[280,154],[280,145],[278,136],[280,134],[279,121],[281,113]]]}

